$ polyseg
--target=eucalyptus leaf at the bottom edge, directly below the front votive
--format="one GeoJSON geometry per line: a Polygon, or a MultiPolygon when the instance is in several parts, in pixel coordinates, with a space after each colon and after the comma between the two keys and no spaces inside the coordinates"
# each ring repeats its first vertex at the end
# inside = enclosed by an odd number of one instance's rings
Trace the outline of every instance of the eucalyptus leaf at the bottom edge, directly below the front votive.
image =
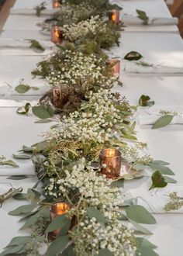
{"type": "Polygon", "coordinates": [[[57,237],[57,239],[50,244],[44,256],[54,256],[57,255],[58,253],[61,253],[67,246],[68,242],[69,238],[67,236],[57,237]]]}

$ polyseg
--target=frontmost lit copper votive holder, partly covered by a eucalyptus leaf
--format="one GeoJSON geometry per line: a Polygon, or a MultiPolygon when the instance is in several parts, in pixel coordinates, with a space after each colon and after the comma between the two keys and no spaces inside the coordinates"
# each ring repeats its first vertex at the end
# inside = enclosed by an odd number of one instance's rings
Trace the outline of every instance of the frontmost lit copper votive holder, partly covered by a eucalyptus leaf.
{"type": "MultiPolygon", "coordinates": [[[[50,207],[50,220],[54,220],[57,216],[67,213],[71,209],[66,202],[57,202],[50,207]]],[[[57,234],[60,232],[60,229],[54,230],[51,232],[51,238],[55,239],[57,234]]]]}

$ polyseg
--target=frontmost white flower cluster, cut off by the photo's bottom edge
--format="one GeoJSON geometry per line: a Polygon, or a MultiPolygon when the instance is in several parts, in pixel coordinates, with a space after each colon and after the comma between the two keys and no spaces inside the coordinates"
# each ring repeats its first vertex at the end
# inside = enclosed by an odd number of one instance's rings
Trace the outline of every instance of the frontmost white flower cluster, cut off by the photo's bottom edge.
{"type": "Polygon", "coordinates": [[[77,255],[89,256],[91,251],[97,255],[100,249],[108,249],[114,256],[136,255],[136,240],[133,237],[133,230],[123,227],[121,223],[108,223],[105,227],[101,223],[97,223],[95,218],[86,219],[79,224],[78,230],[74,232],[71,237],[74,240],[74,250],[77,255]]]}

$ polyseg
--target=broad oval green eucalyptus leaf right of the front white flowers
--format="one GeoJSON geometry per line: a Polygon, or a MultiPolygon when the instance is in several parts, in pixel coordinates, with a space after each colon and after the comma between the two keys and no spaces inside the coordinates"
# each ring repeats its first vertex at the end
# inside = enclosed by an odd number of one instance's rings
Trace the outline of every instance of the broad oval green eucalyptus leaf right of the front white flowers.
{"type": "Polygon", "coordinates": [[[154,216],[152,216],[147,209],[143,206],[129,206],[126,211],[126,216],[129,220],[133,220],[136,223],[143,224],[155,224],[156,220],[154,216]]]}

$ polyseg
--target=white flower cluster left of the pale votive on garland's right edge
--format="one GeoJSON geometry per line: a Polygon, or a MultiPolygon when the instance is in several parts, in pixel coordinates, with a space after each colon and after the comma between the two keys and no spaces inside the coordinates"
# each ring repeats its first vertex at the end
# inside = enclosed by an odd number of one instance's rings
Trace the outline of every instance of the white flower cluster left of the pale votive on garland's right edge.
{"type": "Polygon", "coordinates": [[[57,52],[52,57],[56,57],[59,64],[57,68],[53,67],[53,71],[50,71],[47,76],[47,80],[52,86],[62,83],[75,85],[84,81],[105,88],[112,88],[116,85],[116,76],[112,74],[106,76],[104,61],[96,57],[95,54],[86,56],[81,52],[65,50],[64,57],[59,58],[57,52]]]}

